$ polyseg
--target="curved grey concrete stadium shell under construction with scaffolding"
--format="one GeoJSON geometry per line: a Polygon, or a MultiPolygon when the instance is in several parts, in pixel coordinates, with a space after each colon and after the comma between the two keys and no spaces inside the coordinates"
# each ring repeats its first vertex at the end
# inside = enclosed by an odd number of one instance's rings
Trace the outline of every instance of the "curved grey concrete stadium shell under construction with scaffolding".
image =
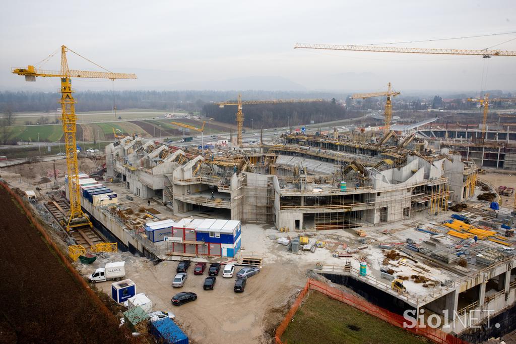
{"type": "Polygon", "coordinates": [[[409,153],[422,149],[414,135],[391,133],[383,147],[302,135],[285,139],[286,145],[262,152],[202,156],[126,137],[106,147],[107,171],[134,195],[155,198],[179,216],[212,209],[231,220],[289,230],[391,223],[422,209],[440,212],[450,196],[460,201],[474,191],[474,162],[409,153]]]}

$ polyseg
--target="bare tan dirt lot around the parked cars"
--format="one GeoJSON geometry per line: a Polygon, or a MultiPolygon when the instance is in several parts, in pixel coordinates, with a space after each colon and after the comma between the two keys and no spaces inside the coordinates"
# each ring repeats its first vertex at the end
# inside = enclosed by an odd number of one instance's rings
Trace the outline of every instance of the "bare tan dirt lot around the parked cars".
{"type": "MultiPolygon", "coordinates": [[[[146,293],[153,301],[154,310],[172,311],[192,343],[270,343],[273,330],[304,287],[307,269],[314,265],[313,261],[299,262],[288,258],[282,252],[286,246],[267,238],[269,233],[277,233],[276,230],[257,225],[243,227],[243,254],[251,251],[257,254],[256,248],[268,248],[260,273],[249,278],[243,293],[233,291],[235,277],[223,278],[222,273],[217,277],[214,290],[203,290],[207,270],[202,276],[193,275],[194,264],[188,269],[185,286],[172,288],[178,262],[163,261],[154,265],[148,259],[137,258],[130,253],[110,254],[97,259],[94,265],[76,265],[79,273],[87,275],[106,262],[125,260],[126,277],[136,283],[136,292],[146,293]],[[197,301],[173,306],[172,296],[181,291],[195,292],[197,301]]],[[[235,272],[239,269],[237,267],[235,272]]],[[[105,292],[111,288],[108,282],[96,286],[105,292]]]]}

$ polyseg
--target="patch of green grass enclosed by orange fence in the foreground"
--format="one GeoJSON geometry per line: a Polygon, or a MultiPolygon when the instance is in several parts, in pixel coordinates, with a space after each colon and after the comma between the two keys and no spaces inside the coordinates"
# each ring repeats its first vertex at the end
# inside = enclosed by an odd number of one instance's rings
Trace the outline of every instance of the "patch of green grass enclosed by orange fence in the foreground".
{"type": "Polygon", "coordinates": [[[431,343],[316,291],[305,297],[281,340],[288,344],[431,343]]]}

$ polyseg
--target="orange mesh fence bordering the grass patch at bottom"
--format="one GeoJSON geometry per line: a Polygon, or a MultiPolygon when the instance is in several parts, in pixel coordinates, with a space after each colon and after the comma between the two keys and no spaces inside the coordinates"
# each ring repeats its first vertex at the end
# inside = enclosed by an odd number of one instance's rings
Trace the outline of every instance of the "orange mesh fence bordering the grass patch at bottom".
{"type": "MultiPolygon", "coordinates": [[[[318,280],[309,278],[307,281],[307,284],[304,286],[304,289],[299,293],[299,296],[297,297],[296,301],[292,305],[292,308],[288,311],[288,313],[285,316],[285,319],[281,322],[281,324],[276,329],[276,343],[277,344],[283,344],[281,341],[281,336],[285,332],[288,323],[292,320],[294,317],[294,314],[296,313],[297,309],[299,308],[299,305],[303,301],[304,296],[308,293],[308,290],[316,290],[318,292],[321,292],[323,294],[326,294],[330,296],[330,298],[343,302],[347,305],[350,305],[354,308],[357,308],[363,312],[366,312],[369,315],[372,315],[374,317],[377,317],[378,319],[381,319],[383,321],[386,321],[390,323],[391,325],[400,327],[401,329],[410,331],[418,336],[424,336],[436,343],[440,344],[467,344],[466,341],[459,339],[457,337],[454,337],[451,334],[448,334],[444,331],[441,331],[439,329],[432,329],[431,327],[413,327],[413,328],[404,328],[403,324],[407,323],[407,320],[396,313],[393,313],[389,310],[386,310],[382,307],[378,307],[358,296],[355,296],[353,294],[350,294],[348,292],[345,292],[340,289],[333,288],[326,283],[319,282],[318,280]]],[[[410,322],[409,322],[410,324],[410,322]]]]}

